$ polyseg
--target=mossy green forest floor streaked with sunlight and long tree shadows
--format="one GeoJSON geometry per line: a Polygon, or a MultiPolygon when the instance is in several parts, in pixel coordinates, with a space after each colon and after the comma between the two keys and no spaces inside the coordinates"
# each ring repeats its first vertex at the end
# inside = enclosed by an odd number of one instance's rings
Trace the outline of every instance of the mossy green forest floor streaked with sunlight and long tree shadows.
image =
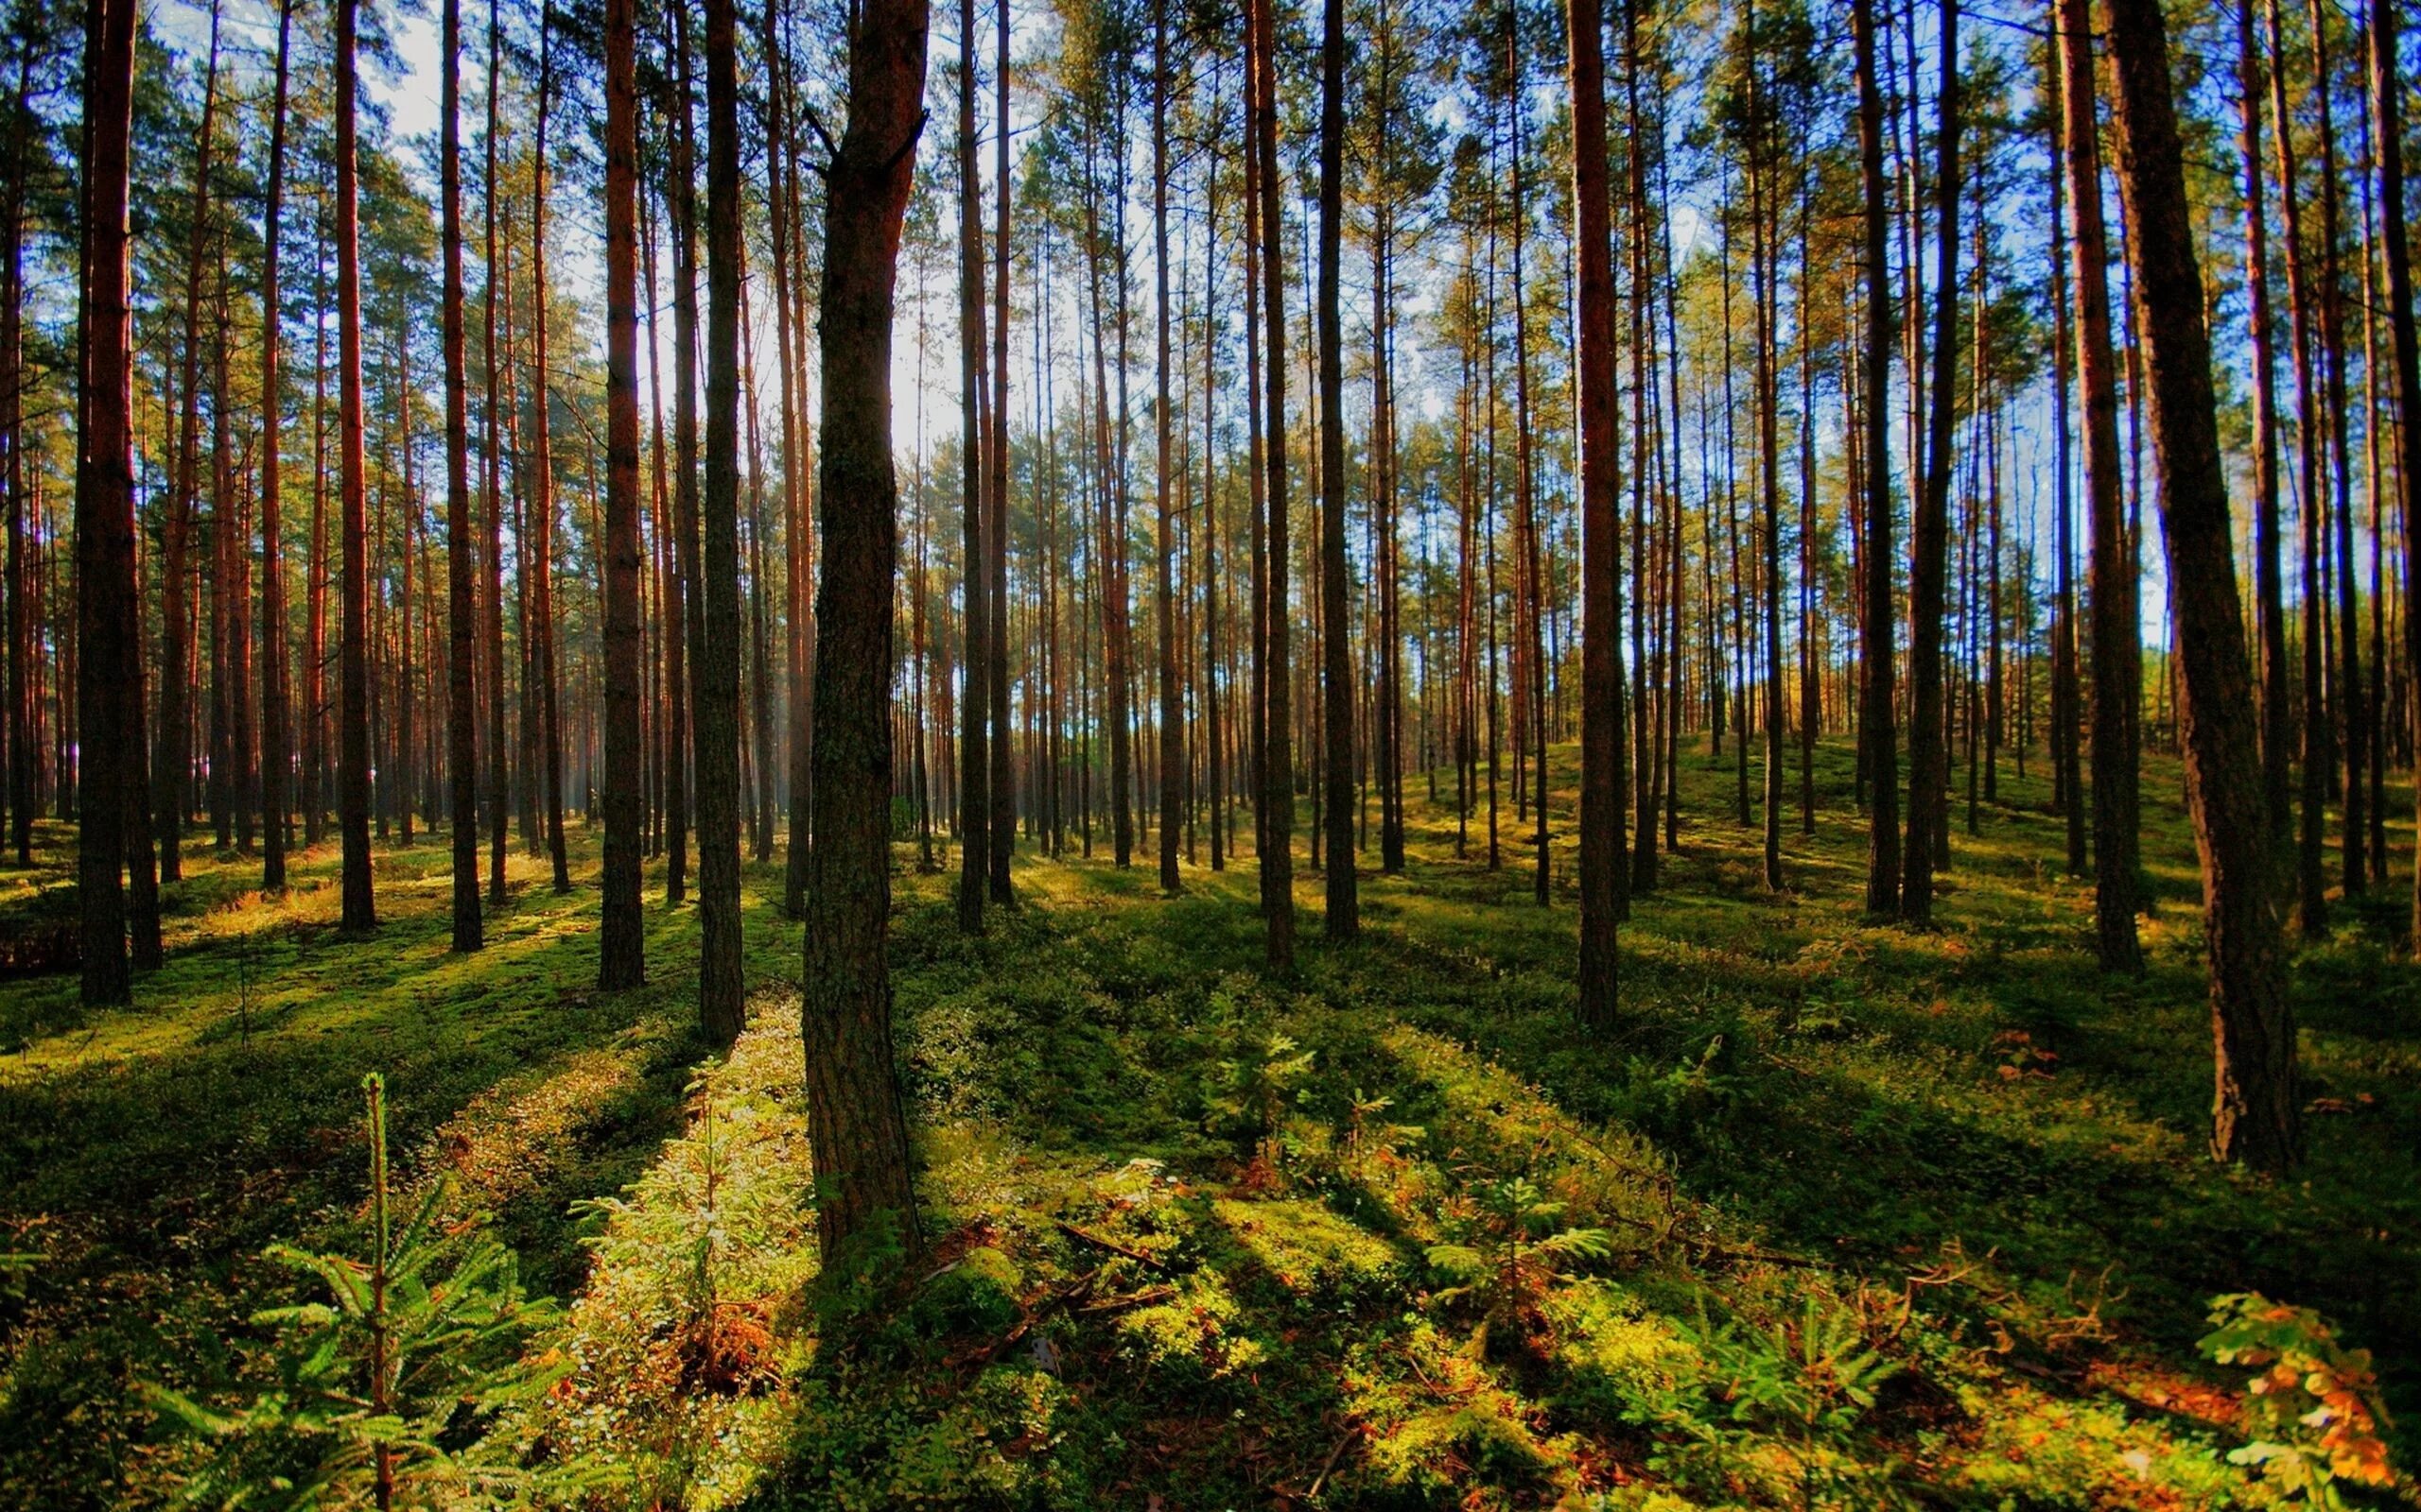
{"type": "MultiPolygon", "coordinates": [[[[1319,941],[1298,868],[1288,982],[1249,856],[1165,900],[1148,849],[1029,852],[1022,907],[961,939],[901,847],[927,1251],[852,1277],[816,1272],[780,864],[746,876],[753,1023],[709,1060],[661,861],[651,985],[598,994],[586,835],[571,895],[516,844],[475,958],[445,951],[438,844],[380,852],[370,941],[334,929],[334,847],[276,900],[196,847],[136,1009],[0,985],[0,1505],[189,1483],[208,1447],[143,1386],[257,1389],[247,1318],[303,1294],[264,1246],[358,1253],[368,1069],[404,1178],[445,1176],[455,1227],[564,1299],[525,1340],[559,1379],[494,1427],[598,1505],[2283,1505],[2227,1459],[2247,1369],[2196,1352],[2230,1292],[2324,1314],[2421,1420],[2402,881],[2298,956],[2312,1156],[2271,1181],[2206,1156],[2174,762],[2145,781],[2150,970],[2111,980],[2041,772],[2005,772],[1980,832],[1961,798],[1937,927],[1908,931],[1859,917],[1847,745],[1813,837],[1792,772],[1770,895],[1697,738],[1591,1040],[1574,760],[1549,910],[1511,803],[1489,871],[1484,815],[1457,859],[1414,779],[1411,866],[1363,876],[1361,941],[1319,941]]],[[[65,907],[70,832],[41,839],[0,924],[65,907]]]]}

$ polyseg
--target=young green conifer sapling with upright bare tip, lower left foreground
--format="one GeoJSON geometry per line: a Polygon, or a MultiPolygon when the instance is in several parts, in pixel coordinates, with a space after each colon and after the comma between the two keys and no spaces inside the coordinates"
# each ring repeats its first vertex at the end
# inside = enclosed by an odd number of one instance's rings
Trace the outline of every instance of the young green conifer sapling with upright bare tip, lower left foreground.
{"type": "Polygon", "coordinates": [[[438,1488],[499,1500],[528,1485],[511,1447],[494,1444],[487,1430],[559,1377],[557,1362],[521,1352],[554,1309],[523,1294],[508,1248],[448,1231],[445,1183],[429,1188],[402,1229],[390,1229],[385,1081],[370,1072],[361,1086],[370,1253],[271,1246],[271,1260],[327,1292],[327,1302],[252,1316],[274,1331],[276,1386],[232,1408],[145,1389],[155,1406],[223,1444],[186,1481],[186,1500],[305,1510],[429,1500],[438,1488]]]}

